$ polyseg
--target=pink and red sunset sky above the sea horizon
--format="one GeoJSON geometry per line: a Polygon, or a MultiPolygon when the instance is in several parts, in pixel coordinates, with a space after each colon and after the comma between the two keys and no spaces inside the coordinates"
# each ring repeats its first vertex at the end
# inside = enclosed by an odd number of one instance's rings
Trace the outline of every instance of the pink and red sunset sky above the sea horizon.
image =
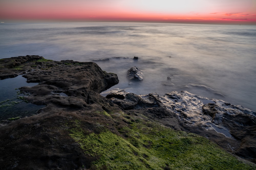
{"type": "Polygon", "coordinates": [[[0,22],[256,25],[256,0],[0,0],[0,22]]]}

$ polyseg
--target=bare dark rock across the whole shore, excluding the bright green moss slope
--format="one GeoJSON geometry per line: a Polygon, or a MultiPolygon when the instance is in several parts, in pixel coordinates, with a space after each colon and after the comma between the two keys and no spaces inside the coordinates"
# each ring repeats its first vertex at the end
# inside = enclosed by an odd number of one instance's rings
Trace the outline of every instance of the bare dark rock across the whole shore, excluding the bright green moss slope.
{"type": "MultiPolygon", "coordinates": [[[[3,79],[24,74],[28,82],[39,82],[20,90],[29,94],[25,97],[29,102],[46,105],[34,116],[0,123],[0,169],[97,169],[92,164],[101,160],[102,155],[86,150],[86,146],[82,146],[83,140],[89,135],[111,132],[127,140],[124,145],[129,143],[128,147],[134,150],[139,147],[136,141],[140,135],[146,134],[133,131],[133,128],[143,124],[146,124],[144,128],[154,126],[196,133],[241,158],[256,160],[256,113],[241,106],[186,91],[159,97],[156,93],[136,95],[118,89],[103,97],[99,93],[117,84],[118,77],[102,71],[93,62],[25,56],[1,59],[0,68],[3,79]],[[55,94],[59,92],[67,96],[55,94]],[[214,127],[227,130],[232,136],[227,137],[214,127]]],[[[150,135],[158,133],[156,130],[151,132],[150,135]]],[[[182,138],[186,139],[186,135],[184,133],[182,138]]],[[[98,137],[97,140],[101,142],[98,137]]],[[[211,145],[208,142],[207,145],[211,145]]],[[[142,150],[152,147],[148,141],[143,143],[142,150]]],[[[134,154],[139,156],[137,151],[134,154]]],[[[143,157],[145,160],[149,158],[146,154],[143,157]]],[[[166,164],[165,169],[171,164],[166,164]]]]}

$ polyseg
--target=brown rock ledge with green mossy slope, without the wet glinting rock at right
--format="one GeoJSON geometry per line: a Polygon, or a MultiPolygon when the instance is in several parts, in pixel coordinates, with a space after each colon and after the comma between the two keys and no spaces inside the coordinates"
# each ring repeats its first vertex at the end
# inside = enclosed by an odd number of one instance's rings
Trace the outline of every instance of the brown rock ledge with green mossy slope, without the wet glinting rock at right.
{"type": "Polygon", "coordinates": [[[25,74],[40,82],[20,88],[30,94],[21,99],[46,105],[34,116],[0,123],[0,169],[256,169],[181,131],[155,95],[148,101],[157,102],[135,110],[113,104],[99,93],[118,77],[93,62],[23,56],[2,59],[0,67],[0,79],[25,74]]]}

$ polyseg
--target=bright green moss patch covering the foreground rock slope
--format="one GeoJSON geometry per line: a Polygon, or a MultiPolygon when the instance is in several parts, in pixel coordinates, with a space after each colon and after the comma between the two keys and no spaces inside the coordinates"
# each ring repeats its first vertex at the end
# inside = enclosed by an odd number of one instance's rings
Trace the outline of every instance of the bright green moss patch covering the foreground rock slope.
{"type": "Polygon", "coordinates": [[[133,122],[119,129],[124,137],[107,129],[89,134],[79,121],[70,132],[85,154],[97,158],[91,169],[256,168],[238,161],[204,137],[152,122],[133,122]]]}

